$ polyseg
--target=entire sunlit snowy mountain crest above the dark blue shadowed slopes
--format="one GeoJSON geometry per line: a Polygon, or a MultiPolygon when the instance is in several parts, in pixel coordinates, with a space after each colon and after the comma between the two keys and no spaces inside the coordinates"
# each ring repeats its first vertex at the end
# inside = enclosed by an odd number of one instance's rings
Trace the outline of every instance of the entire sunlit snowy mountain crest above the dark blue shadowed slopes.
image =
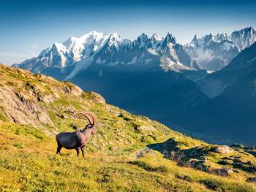
{"type": "Polygon", "coordinates": [[[48,73],[54,69],[55,75],[71,79],[91,64],[130,65],[157,64],[165,72],[173,70],[217,71],[256,40],[254,28],[244,28],[232,34],[195,35],[192,42],[181,45],[175,37],[167,34],[165,38],[153,34],[141,34],[131,41],[118,34],[102,34],[91,31],[82,37],[70,37],[63,43],[53,43],[38,55],[16,64],[32,72],[48,73]]]}

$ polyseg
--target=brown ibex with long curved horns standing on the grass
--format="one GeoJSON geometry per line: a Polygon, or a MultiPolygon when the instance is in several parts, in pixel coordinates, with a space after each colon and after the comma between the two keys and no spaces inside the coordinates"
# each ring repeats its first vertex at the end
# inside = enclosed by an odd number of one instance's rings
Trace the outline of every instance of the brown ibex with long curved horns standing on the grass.
{"type": "Polygon", "coordinates": [[[68,150],[75,149],[79,155],[79,149],[82,150],[84,157],[84,147],[86,147],[91,134],[96,134],[97,131],[97,118],[92,112],[77,112],[76,114],[85,115],[89,120],[89,124],[80,131],[75,132],[61,132],[56,135],[56,141],[58,144],[57,153],[61,155],[61,148],[64,147],[68,150]]]}

